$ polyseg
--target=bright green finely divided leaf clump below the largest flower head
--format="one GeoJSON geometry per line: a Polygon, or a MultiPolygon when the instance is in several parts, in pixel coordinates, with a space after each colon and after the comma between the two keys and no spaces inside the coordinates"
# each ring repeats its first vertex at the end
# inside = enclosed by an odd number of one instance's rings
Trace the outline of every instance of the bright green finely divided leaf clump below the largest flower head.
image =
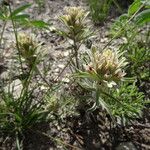
{"type": "Polygon", "coordinates": [[[112,90],[111,95],[118,99],[107,99],[110,110],[114,116],[125,121],[132,121],[133,118],[141,116],[142,109],[144,108],[144,94],[138,91],[135,84],[122,83],[117,90],[112,90]]]}

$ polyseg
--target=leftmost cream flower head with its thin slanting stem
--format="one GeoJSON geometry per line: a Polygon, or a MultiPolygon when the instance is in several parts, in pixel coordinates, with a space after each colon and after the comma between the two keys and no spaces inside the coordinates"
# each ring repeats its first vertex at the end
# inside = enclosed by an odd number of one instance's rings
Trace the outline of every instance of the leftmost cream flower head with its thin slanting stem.
{"type": "Polygon", "coordinates": [[[51,87],[51,84],[46,80],[46,78],[43,77],[42,73],[36,65],[39,62],[39,50],[42,49],[41,43],[38,43],[34,36],[29,36],[28,34],[22,33],[18,35],[18,46],[21,58],[29,68],[29,75],[31,71],[32,73],[33,71],[37,71],[43,81],[49,87],[51,87]]]}

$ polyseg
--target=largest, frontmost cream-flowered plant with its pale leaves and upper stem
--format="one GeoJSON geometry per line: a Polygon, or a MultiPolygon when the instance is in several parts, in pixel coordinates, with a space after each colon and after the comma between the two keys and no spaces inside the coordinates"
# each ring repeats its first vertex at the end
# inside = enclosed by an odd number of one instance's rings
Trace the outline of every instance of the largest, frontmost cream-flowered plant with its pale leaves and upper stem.
{"type": "Polygon", "coordinates": [[[79,70],[74,77],[81,78],[80,85],[93,91],[96,101],[90,110],[102,106],[109,112],[109,106],[105,102],[107,96],[111,97],[109,91],[117,87],[117,84],[124,79],[124,67],[127,62],[117,51],[98,51],[92,48],[89,55],[90,61],[85,65],[85,70],[79,70]]]}

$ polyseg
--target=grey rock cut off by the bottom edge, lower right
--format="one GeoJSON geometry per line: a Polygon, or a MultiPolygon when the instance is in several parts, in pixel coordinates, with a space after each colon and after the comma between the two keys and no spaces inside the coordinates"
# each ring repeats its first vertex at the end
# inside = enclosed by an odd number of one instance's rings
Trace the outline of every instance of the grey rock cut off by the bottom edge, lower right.
{"type": "Polygon", "coordinates": [[[123,142],[116,147],[116,150],[137,150],[132,142],[123,142]]]}

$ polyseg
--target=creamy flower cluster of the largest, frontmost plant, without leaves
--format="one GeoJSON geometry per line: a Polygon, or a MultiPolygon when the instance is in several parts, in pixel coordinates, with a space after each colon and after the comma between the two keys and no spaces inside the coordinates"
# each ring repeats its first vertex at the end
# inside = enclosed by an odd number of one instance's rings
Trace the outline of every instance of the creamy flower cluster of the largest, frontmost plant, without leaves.
{"type": "Polygon", "coordinates": [[[123,68],[126,66],[125,58],[117,51],[93,51],[92,61],[88,65],[88,72],[96,73],[104,82],[119,81],[125,76],[123,68]]]}

